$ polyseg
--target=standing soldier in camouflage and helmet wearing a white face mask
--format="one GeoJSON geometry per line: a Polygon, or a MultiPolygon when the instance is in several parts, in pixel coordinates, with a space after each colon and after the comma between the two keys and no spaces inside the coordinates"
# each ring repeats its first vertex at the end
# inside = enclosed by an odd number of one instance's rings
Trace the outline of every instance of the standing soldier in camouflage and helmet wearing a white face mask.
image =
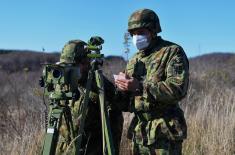
{"type": "Polygon", "coordinates": [[[115,84],[129,93],[129,111],[135,114],[129,127],[133,154],[180,155],[187,126],[178,102],[187,93],[187,56],[182,47],[157,36],[161,27],[152,10],[134,12],[128,31],[138,52],[115,84]]]}

